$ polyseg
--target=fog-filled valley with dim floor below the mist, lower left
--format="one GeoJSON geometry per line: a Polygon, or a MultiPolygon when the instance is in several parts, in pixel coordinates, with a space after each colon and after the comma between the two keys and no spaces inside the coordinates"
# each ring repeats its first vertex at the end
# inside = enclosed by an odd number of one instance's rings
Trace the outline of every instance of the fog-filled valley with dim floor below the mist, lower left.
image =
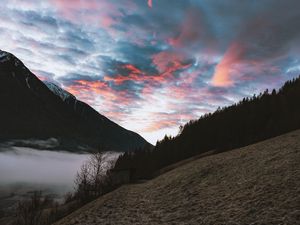
{"type": "MultiPolygon", "coordinates": [[[[120,153],[104,153],[105,170],[114,165],[120,153]]],[[[0,224],[7,225],[15,215],[19,201],[29,199],[35,191],[62,203],[74,192],[74,179],[89,154],[47,151],[24,147],[0,150],[0,224]]]]}

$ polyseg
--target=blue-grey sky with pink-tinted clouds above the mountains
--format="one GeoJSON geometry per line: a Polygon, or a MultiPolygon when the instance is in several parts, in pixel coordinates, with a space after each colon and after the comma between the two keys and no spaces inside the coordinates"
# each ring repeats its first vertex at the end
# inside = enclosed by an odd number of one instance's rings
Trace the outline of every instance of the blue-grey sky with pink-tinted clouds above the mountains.
{"type": "Polygon", "coordinates": [[[300,74],[298,0],[1,0],[0,49],[155,144],[300,74]]]}

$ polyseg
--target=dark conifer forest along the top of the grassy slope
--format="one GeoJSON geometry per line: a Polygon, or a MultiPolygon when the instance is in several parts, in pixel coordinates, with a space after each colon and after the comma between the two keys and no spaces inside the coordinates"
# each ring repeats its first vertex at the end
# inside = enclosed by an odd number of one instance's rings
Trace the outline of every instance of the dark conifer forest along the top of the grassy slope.
{"type": "Polygon", "coordinates": [[[228,107],[218,108],[165,136],[154,148],[120,156],[116,169],[131,169],[134,179],[151,178],[159,169],[206,153],[246,146],[300,128],[300,76],[278,91],[267,89],[228,107]]]}

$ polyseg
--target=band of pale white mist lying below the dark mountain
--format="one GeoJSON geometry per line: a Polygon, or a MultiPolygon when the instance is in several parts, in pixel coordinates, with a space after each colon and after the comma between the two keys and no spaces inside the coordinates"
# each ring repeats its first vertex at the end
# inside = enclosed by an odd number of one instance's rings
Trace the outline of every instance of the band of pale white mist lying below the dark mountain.
{"type": "MultiPolygon", "coordinates": [[[[113,164],[118,155],[105,153],[104,166],[113,164]]],[[[56,194],[72,191],[76,172],[88,157],[88,154],[24,147],[0,148],[0,187],[6,191],[13,191],[20,186],[26,189],[51,189],[56,194]]]]}

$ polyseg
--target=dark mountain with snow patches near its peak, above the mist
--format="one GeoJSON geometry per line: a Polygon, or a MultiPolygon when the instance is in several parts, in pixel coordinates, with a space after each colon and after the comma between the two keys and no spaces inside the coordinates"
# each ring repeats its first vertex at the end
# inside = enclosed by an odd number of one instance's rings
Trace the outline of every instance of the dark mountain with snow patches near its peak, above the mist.
{"type": "Polygon", "coordinates": [[[0,142],[40,148],[128,151],[147,141],[0,50],[0,142]]]}

